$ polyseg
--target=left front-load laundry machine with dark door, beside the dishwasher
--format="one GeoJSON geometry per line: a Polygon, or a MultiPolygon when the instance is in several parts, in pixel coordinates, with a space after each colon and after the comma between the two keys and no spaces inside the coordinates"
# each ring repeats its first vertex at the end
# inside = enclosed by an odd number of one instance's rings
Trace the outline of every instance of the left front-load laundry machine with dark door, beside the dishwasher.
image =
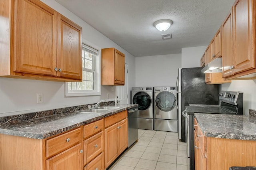
{"type": "Polygon", "coordinates": [[[138,104],[138,128],[153,130],[153,87],[132,87],[132,103],[138,104]]]}

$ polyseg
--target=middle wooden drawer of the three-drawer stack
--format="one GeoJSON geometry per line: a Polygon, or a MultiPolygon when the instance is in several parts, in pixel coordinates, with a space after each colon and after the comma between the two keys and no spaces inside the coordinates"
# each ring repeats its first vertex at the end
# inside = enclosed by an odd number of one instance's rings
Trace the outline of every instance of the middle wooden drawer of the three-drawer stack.
{"type": "Polygon", "coordinates": [[[104,136],[103,131],[84,140],[84,164],[90,162],[100,152],[103,151],[104,136]]]}

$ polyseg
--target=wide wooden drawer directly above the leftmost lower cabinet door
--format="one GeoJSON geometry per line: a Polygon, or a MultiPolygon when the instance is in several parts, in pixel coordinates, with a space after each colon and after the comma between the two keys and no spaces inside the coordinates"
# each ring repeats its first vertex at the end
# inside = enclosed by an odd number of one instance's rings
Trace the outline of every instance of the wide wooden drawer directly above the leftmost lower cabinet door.
{"type": "Polygon", "coordinates": [[[54,138],[46,140],[46,157],[54,156],[81,142],[81,128],[71,130],[54,138]]]}

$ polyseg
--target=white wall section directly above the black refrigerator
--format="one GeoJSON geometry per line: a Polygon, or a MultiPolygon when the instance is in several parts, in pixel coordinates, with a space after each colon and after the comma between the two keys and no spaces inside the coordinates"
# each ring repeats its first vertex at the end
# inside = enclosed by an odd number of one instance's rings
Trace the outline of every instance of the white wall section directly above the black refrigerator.
{"type": "Polygon", "coordinates": [[[201,67],[200,59],[204,54],[207,46],[199,47],[188,47],[181,49],[181,67],[191,68],[191,67],[201,67]]]}

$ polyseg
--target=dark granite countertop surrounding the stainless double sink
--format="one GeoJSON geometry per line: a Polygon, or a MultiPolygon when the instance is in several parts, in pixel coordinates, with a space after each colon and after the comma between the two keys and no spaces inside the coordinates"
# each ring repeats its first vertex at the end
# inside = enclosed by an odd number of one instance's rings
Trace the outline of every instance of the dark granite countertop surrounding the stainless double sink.
{"type": "Polygon", "coordinates": [[[63,113],[0,125],[0,133],[27,138],[44,139],[67,130],[86,125],[120,111],[136,107],[137,104],[120,104],[119,109],[105,113],[63,113]]]}

